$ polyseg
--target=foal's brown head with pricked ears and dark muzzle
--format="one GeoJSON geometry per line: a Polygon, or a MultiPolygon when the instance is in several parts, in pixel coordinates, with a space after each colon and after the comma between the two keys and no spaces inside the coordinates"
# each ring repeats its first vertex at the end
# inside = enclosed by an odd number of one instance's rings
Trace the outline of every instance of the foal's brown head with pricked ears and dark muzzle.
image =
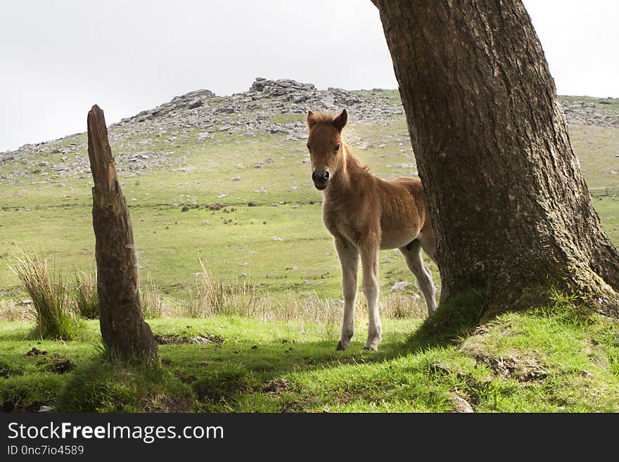
{"type": "Polygon", "coordinates": [[[307,149],[312,160],[312,180],[320,191],[338,169],[342,157],[342,129],[348,120],[344,109],[340,115],[307,113],[307,149]]]}

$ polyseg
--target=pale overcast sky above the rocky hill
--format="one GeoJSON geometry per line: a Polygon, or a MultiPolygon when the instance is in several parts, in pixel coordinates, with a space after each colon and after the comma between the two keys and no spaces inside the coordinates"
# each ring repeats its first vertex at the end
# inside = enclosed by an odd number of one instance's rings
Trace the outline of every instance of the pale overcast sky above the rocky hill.
{"type": "MultiPolygon", "coordinates": [[[[619,97],[619,1],[525,6],[559,94],[619,97]]],[[[1,0],[0,152],[255,77],[397,87],[369,0],[1,0]]]]}

